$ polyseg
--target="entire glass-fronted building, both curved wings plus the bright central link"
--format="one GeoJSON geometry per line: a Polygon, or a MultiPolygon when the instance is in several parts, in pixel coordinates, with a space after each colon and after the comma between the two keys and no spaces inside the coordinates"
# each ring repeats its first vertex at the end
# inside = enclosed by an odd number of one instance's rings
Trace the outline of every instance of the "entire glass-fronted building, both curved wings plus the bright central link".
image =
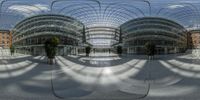
{"type": "Polygon", "coordinates": [[[13,43],[20,52],[40,55],[39,51],[43,51],[44,55],[42,46],[52,36],[61,40],[59,55],[84,51],[84,43],[97,49],[113,49],[120,44],[127,54],[144,54],[144,45],[149,41],[156,44],[157,54],[184,52],[188,46],[187,30],[165,18],[141,17],[118,28],[85,27],[76,19],[53,14],[33,16],[18,23],[13,31],[13,43]]]}

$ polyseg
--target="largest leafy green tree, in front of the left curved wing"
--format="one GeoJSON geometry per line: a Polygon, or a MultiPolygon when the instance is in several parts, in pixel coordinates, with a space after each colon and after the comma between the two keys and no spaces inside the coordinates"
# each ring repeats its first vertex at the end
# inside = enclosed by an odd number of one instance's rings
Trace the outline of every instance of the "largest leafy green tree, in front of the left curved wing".
{"type": "Polygon", "coordinates": [[[57,46],[59,44],[59,39],[57,37],[52,37],[45,42],[45,52],[48,57],[48,63],[53,64],[53,59],[56,56],[57,46]]]}

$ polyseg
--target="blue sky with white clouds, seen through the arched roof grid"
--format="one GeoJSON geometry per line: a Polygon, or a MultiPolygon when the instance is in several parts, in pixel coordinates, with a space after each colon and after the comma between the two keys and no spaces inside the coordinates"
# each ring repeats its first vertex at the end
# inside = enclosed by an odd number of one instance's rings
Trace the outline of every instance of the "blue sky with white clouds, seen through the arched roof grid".
{"type": "Polygon", "coordinates": [[[1,6],[1,29],[12,29],[23,19],[49,13],[74,17],[87,27],[119,27],[128,20],[152,16],[171,19],[186,28],[200,23],[200,0],[148,0],[151,7],[143,0],[99,0],[101,8],[94,0],[58,0],[51,11],[52,1],[6,0],[1,6]]]}

